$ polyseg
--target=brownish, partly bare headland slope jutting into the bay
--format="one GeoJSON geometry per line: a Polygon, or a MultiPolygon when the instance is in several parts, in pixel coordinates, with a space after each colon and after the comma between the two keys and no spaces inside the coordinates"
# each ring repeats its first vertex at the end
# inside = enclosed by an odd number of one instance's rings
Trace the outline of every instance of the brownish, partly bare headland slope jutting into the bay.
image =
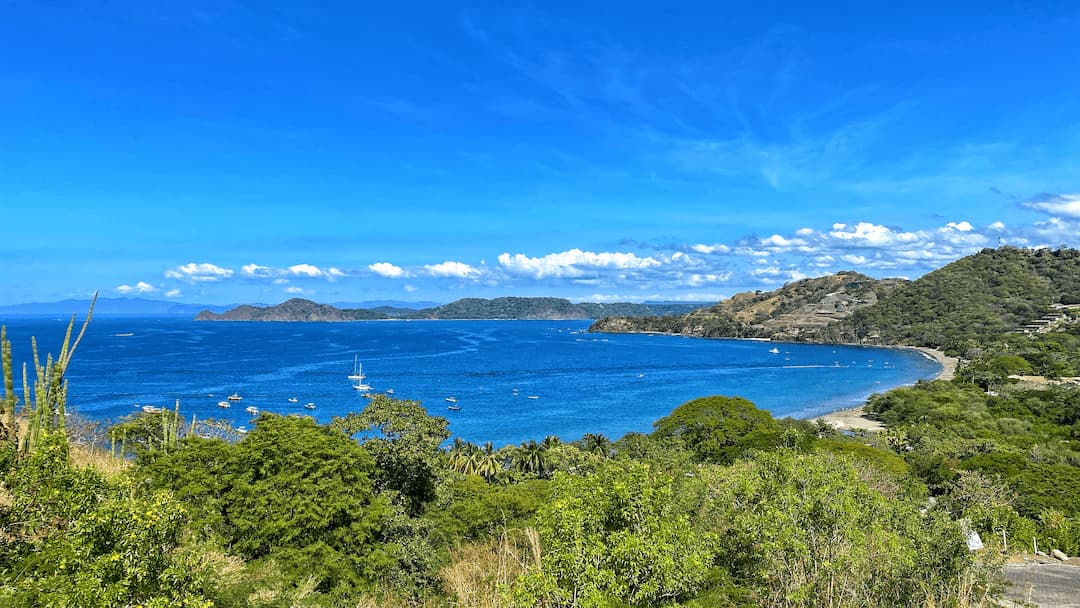
{"type": "Polygon", "coordinates": [[[707,338],[815,339],[825,327],[877,303],[905,283],[902,279],[877,280],[858,272],[838,272],[788,283],[772,292],[735,294],[680,316],[600,319],[591,329],[707,338]]]}

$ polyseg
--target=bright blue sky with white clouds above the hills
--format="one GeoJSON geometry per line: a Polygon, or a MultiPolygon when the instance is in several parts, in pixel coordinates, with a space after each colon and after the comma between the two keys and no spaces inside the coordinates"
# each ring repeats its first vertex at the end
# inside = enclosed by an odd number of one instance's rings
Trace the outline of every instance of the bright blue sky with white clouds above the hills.
{"type": "Polygon", "coordinates": [[[0,303],[711,300],[1080,245],[1075,3],[9,2],[0,303]]]}

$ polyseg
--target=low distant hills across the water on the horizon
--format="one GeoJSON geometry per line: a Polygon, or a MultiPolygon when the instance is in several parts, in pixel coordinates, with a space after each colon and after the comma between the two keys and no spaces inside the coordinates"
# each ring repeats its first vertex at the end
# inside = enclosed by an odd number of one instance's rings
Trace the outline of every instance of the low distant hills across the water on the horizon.
{"type": "Polygon", "coordinates": [[[382,319],[474,319],[474,320],[541,320],[597,319],[605,315],[643,316],[679,314],[699,303],[571,303],[563,298],[464,298],[448,305],[411,310],[380,307],[375,309],[339,309],[302,298],[293,298],[276,306],[240,306],[224,313],[207,310],[195,321],[365,321],[382,319]]]}

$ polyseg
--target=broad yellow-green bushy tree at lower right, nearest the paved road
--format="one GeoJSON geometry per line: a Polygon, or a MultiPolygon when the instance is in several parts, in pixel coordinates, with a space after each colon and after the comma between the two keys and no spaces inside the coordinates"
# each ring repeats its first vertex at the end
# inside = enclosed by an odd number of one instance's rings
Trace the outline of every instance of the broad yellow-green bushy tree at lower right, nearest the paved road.
{"type": "Polygon", "coordinates": [[[940,605],[957,581],[989,584],[947,513],[920,516],[843,460],[762,452],[684,486],[694,526],[723,539],[717,563],[758,606],[940,605]]]}

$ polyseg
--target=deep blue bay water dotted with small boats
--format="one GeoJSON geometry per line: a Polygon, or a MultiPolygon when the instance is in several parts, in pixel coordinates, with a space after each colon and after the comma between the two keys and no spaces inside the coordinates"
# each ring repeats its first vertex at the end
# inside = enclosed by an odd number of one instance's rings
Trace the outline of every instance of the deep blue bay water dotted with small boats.
{"type": "MultiPolygon", "coordinates": [[[[5,323],[16,362],[30,356],[31,335],[42,356],[55,353],[66,328],[66,320],[5,323]]],[[[590,432],[611,438],[648,432],[676,406],[713,394],[744,396],[778,417],[808,418],[941,369],[906,350],[582,333],[588,326],[99,317],[68,369],[68,403],[96,419],[132,414],[135,404],[172,407],[179,398],[186,417],[249,424],[244,407],[254,405],[328,421],[366,404],[347,379],[359,354],[374,391],[392,388],[395,397],[418,400],[449,419],[455,436],[498,446],[551,434],[569,441],[590,432]],[[770,353],[773,347],[781,352],[770,353]],[[233,392],[244,400],[217,407],[233,392]],[[460,411],[447,410],[450,395],[460,411]],[[299,402],[288,403],[294,396],[299,402]],[[303,409],[306,402],[316,408],[303,409]]]]}

